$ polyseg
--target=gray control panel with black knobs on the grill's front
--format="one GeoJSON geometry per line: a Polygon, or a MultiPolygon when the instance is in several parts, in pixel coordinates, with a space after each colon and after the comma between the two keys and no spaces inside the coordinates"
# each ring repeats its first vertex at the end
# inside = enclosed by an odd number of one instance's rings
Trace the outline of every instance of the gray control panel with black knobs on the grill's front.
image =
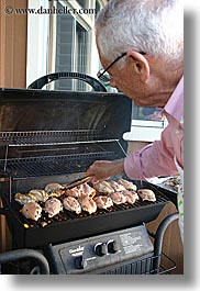
{"type": "Polygon", "coordinates": [[[144,225],[52,246],[48,258],[57,273],[87,273],[153,251],[144,225]]]}

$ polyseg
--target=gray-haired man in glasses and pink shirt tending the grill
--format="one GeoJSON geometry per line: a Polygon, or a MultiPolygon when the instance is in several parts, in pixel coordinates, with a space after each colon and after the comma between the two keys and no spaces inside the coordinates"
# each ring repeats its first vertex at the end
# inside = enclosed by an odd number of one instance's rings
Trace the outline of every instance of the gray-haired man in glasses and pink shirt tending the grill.
{"type": "MultiPolygon", "coordinates": [[[[131,179],[184,170],[184,9],[178,0],[111,0],[98,14],[97,46],[112,87],[141,107],[163,108],[168,120],[160,141],[123,160],[95,161],[87,170],[102,180],[125,172],[131,179]]],[[[182,192],[179,205],[182,212],[182,192]]],[[[182,231],[182,215],[179,224],[182,231]]],[[[181,232],[182,234],[182,232],[181,232]]]]}

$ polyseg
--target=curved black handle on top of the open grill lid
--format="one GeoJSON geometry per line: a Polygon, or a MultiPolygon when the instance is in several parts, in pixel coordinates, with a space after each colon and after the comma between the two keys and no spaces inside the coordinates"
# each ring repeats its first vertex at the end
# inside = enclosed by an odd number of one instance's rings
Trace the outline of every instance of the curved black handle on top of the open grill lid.
{"type": "Polygon", "coordinates": [[[71,72],[71,71],[62,71],[62,72],[54,72],[46,76],[43,76],[32,82],[27,89],[42,89],[45,85],[56,81],[59,79],[78,79],[89,83],[95,91],[99,92],[107,92],[107,88],[100,81],[95,79],[91,76],[80,74],[80,72],[71,72]]]}

